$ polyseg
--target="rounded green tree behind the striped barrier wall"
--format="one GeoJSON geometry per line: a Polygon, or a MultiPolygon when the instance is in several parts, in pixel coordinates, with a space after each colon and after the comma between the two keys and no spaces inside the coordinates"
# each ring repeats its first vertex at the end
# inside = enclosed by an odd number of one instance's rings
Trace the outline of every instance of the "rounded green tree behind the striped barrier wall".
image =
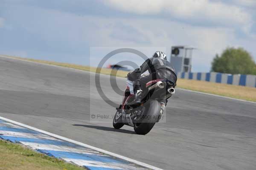
{"type": "Polygon", "coordinates": [[[243,48],[227,48],[221,56],[215,55],[212,61],[213,72],[256,75],[256,64],[252,56],[243,48]]]}

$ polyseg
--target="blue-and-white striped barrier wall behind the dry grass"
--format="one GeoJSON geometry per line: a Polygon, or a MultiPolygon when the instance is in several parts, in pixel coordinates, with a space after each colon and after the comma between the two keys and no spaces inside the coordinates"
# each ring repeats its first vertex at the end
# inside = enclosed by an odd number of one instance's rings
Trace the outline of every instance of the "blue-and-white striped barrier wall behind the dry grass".
{"type": "Polygon", "coordinates": [[[220,72],[181,72],[178,73],[178,78],[193,79],[199,81],[210,81],[222,84],[233,84],[239,86],[256,87],[256,75],[231,75],[220,72]],[[186,75],[186,76],[185,76],[186,75]]]}

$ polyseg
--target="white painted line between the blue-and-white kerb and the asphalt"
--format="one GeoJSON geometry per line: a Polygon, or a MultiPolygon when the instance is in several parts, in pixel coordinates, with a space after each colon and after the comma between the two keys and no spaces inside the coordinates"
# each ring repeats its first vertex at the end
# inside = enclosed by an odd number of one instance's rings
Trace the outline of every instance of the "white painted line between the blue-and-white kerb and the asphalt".
{"type": "Polygon", "coordinates": [[[81,143],[81,142],[79,142],[79,141],[74,141],[74,140],[72,140],[72,139],[65,138],[65,137],[60,136],[60,135],[56,135],[56,134],[54,134],[54,133],[49,133],[49,132],[47,132],[47,131],[37,129],[37,128],[35,128],[35,127],[31,127],[31,126],[26,125],[26,124],[22,124],[22,123],[20,123],[20,122],[13,121],[13,120],[10,120],[10,119],[8,119],[8,118],[4,118],[4,117],[2,117],[2,116],[0,116],[0,119],[2,119],[3,121],[7,121],[7,122],[9,122],[9,123],[12,123],[12,124],[16,124],[16,125],[21,126],[21,127],[28,128],[28,129],[30,129],[30,130],[35,130],[35,131],[37,131],[37,132],[44,133],[44,134],[46,134],[46,135],[52,136],[52,137],[54,137],[54,138],[58,138],[58,139],[63,140],[63,141],[67,141],[67,142],[70,142],[70,143],[73,143],[73,144],[77,144],[77,145],[80,145],[80,146],[82,146],[82,147],[87,147],[87,148],[90,148],[90,149],[92,149],[92,150],[96,150],[96,151],[99,151],[99,152],[101,152],[101,153],[105,153],[105,154],[107,154],[107,155],[110,155],[110,156],[113,156],[113,157],[116,157],[116,158],[123,159],[123,160],[125,160],[125,161],[129,161],[129,162],[131,162],[131,163],[140,165],[140,166],[145,167],[145,168],[149,168],[149,169],[152,169],[152,170],[163,170],[163,169],[160,169],[160,168],[158,168],[158,167],[154,167],[154,166],[151,166],[151,165],[149,165],[149,164],[145,164],[145,163],[143,163],[143,162],[136,161],[136,160],[134,160],[134,159],[127,158],[127,157],[125,157],[125,156],[121,156],[121,155],[118,155],[118,154],[116,154],[116,153],[109,152],[109,151],[107,151],[107,150],[102,150],[102,149],[100,149],[100,148],[93,147],[93,146],[90,146],[90,145],[88,145],[88,144],[81,143]]]}

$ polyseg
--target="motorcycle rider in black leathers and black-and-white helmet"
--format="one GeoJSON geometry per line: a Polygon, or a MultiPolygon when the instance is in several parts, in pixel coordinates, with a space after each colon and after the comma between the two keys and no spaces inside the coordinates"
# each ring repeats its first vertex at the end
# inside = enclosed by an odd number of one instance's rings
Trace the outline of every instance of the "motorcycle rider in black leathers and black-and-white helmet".
{"type": "MultiPolygon", "coordinates": [[[[138,69],[128,73],[128,80],[133,81],[135,99],[133,104],[140,105],[142,99],[146,94],[146,84],[152,80],[165,80],[171,82],[172,86],[176,86],[177,75],[172,64],[166,60],[166,54],[164,52],[154,52],[151,58],[148,58],[138,69]],[[148,71],[149,75],[140,78],[144,72],[148,71]],[[145,93],[145,94],[144,94],[145,93]]],[[[161,102],[163,107],[166,105],[166,101],[161,102]]]]}

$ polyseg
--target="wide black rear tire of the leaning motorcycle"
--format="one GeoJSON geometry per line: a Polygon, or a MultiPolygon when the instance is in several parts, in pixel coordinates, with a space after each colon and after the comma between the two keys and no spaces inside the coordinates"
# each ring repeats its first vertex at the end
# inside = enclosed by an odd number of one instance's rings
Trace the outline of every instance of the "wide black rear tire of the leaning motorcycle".
{"type": "MultiPolygon", "coordinates": [[[[157,119],[153,118],[153,116],[157,117],[160,112],[160,104],[158,101],[150,101],[150,104],[146,106],[145,115],[150,116],[150,119],[144,118],[141,120],[141,123],[134,123],[134,131],[139,135],[145,135],[150,132],[150,130],[154,127],[154,124],[157,122],[157,119]]],[[[144,115],[144,114],[143,114],[144,115]]]]}

